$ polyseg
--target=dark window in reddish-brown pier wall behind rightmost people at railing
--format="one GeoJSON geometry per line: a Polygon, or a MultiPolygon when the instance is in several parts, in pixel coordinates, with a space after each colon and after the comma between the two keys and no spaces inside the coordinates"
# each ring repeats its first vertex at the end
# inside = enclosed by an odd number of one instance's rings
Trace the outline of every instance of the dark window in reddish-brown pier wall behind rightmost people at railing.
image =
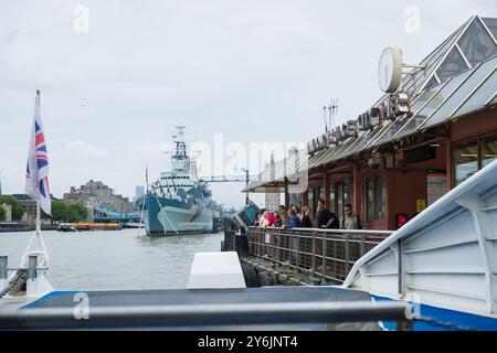
{"type": "Polygon", "coordinates": [[[366,220],[372,223],[384,218],[384,204],[387,196],[387,186],[384,175],[367,176],[366,188],[366,220]]]}

